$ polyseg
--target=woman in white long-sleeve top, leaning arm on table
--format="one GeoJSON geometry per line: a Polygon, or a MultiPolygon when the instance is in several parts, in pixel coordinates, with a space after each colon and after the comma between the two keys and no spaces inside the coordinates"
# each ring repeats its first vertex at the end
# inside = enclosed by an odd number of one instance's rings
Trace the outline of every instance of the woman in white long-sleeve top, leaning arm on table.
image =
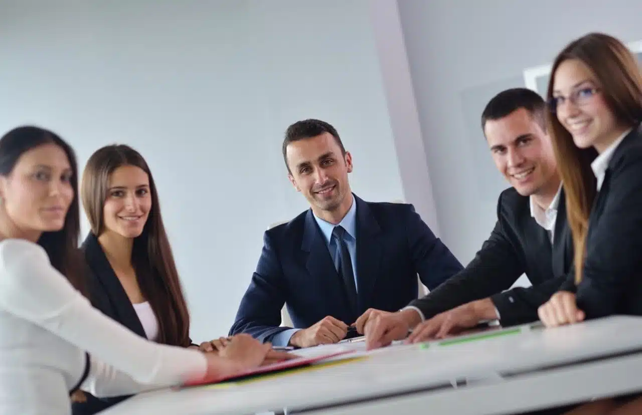
{"type": "Polygon", "coordinates": [[[220,355],[152,343],[91,307],[77,248],[78,171],[51,131],[0,139],[0,414],[71,412],[69,394],[131,394],[286,355],[248,336],[220,355]]]}

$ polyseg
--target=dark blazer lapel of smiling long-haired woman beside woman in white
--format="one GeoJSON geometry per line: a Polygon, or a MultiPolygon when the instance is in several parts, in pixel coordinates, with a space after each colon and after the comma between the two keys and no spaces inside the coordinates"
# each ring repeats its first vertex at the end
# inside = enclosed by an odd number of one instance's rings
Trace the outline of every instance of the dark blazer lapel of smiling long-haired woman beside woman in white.
{"type": "Polygon", "coordinates": [[[96,276],[98,284],[105,290],[107,297],[109,299],[110,305],[114,310],[117,321],[122,325],[126,326],[135,334],[140,335],[141,337],[147,337],[141,320],[138,318],[132,301],[129,300],[125,289],[120,280],[114,273],[103,248],[101,248],[98,238],[92,233],[87,236],[85,242],[83,242],[83,250],[85,251],[85,258],[87,258],[87,264],[91,267],[91,271],[96,276]]]}

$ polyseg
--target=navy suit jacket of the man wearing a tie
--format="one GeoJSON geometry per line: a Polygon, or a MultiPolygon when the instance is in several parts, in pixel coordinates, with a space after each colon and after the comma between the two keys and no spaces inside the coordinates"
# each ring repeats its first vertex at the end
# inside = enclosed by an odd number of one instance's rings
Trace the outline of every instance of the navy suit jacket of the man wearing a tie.
{"type": "Polygon", "coordinates": [[[349,307],[324,236],[307,210],[265,232],[264,246],[230,334],[245,332],[261,341],[287,327],[288,305],[296,328],[325,316],[351,324],[369,307],[396,311],[417,298],[417,274],[429,288],[462,269],[412,205],[356,201],[358,310],[349,307]]]}

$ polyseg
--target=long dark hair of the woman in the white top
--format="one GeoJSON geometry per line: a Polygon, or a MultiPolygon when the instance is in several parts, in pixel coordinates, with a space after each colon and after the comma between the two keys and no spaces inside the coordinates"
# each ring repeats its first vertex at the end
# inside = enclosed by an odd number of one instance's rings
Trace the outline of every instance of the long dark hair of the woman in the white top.
{"type": "Polygon", "coordinates": [[[38,244],[44,248],[51,265],[82,294],[87,295],[85,284],[86,267],[82,254],[78,249],[80,236],[80,208],[78,207],[78,164],[76,155],[63,139],[55,133],[35,126],[14,128],[0,139],[0,175],[12,173],[19,158],[31,149],[45,144],[55,144],[67,155],[72,175],[69,179],[74,196],[65,216],[65,224],[61,230],[42,232],[38,244]]]}

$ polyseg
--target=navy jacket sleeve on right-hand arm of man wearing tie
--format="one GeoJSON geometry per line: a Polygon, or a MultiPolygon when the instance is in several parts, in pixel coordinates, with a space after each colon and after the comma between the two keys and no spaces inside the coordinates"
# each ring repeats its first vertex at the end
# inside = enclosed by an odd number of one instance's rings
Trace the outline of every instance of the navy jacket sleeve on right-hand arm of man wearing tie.
{"type": "Polygon", "coordinates": [[[429,290],[437,288],[464,268],[444,242],[422,221],[413,205],[410,205],[406,221],[406,235],[415,270],[429,290]]]}

